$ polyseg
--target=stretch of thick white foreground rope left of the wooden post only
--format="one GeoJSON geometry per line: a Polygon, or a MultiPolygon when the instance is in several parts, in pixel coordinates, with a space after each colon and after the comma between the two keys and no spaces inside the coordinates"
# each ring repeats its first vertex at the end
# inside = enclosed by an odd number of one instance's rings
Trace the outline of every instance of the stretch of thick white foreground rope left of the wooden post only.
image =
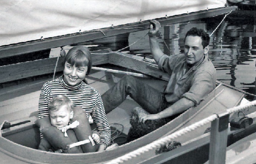
{"type": "Polygon", "coordinates": [[[181,135],[186,134],[187,132],[190,132],[198,127],[201,127],[202,125],[205,125],[211,121],[213,121],[214,119],[217,118],[217,114],[211,115],[210,117],[207,117],[205,119],[202,119],[201,121],[196,122],[195,124],[192,124],[186,128],[183,128],[177,132],[174,132],[171,135],[168,135],[164,138],[161,138],[159,140],[153,141],[152,143],[145,145],[144,147],[141,147],[135,151],[129,152],[121,157],[118,157],[114,160],[109,161],[107,164],[118,164],[118,163],[123,163],[124,161],[127,161],[133,157],[136,157],[137,155],[140,155],[146,151],[152,150],[154,148],[159,148],[162,145],[165,145],[166,143],[172,141],[174,138],[177,138],[181,135]]]}

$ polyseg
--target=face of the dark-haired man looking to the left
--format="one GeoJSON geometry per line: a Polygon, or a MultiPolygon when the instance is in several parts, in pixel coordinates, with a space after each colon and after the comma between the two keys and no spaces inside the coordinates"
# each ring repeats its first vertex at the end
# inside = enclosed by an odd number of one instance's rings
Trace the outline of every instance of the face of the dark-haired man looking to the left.
{"type": "Polygon", "coordinates": [[[202,47],[200,36],[187,36],[184,44],[184,52],[188,64],[193,65],[199,62],[203,58],[204,53],[208,52],[208,46],[202,47]]]}

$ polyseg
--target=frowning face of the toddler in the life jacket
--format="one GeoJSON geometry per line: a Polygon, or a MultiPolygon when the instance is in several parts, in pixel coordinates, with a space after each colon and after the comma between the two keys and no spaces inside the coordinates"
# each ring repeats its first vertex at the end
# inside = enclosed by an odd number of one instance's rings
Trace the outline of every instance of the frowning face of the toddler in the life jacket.
{"type": "Polygon", "coordinates": [[[58,110],[50,111],[51,124],[57,128],[63,128],[68,125],[71,112],[68,105],[62,105],[58,110]]]}

